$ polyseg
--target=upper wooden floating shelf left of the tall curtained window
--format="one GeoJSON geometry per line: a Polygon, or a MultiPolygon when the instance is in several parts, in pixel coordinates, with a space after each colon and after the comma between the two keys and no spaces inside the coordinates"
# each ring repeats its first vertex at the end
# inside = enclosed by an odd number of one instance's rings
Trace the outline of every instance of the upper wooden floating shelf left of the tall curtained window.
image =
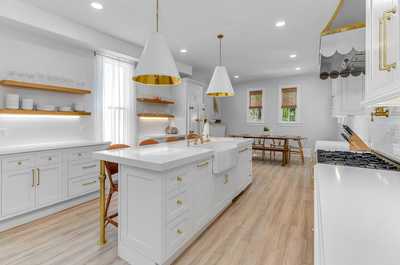
{"type": "Polygon", "coordinates": [[[28,83],[28,82],[15,81],[15,80],[1,80],[0,85],[14,87],[14,88],[42,90],[42,91],[68,93],[68,94],[84,95],[84,94],[92,93],[88,89],[78,89],[78,88],[72,88],[72,87],[62,87],[62,86],[54,86],[54,85],[38,84],[38,83],[28,83]]]}

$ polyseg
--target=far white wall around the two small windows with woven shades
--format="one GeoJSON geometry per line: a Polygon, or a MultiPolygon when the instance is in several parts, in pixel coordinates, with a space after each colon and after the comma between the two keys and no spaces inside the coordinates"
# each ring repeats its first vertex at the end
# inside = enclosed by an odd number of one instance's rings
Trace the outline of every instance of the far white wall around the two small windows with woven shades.
{"type": "Polygon", "coordinates": [[[316,140],[337,138],[337,123],[331,115],[331,82],[320,80],[317,74],[245,82],[235,86],[235,93],[234,97],[221,99],[222,121],[227,125],[228,134],[261,133],[266,126],[272,134],[307,137],[307,148],[312,148],[316,140]],[[279,88],[287,85],[300,88],[301,121],[292,126],[278,122],[279,88]],[[247,91],[259,88],[266,96],[264,123],[248,123],[247,91]]]}

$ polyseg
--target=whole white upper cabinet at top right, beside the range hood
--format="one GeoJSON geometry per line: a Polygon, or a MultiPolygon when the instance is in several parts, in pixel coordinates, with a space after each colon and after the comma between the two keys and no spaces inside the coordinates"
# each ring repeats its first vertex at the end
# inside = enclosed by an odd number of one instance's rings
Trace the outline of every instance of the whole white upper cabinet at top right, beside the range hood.
{"type": "Polygon", "coordinates": [[[400,103],[399,2],[367,0],[364,105],[400,103]]]}

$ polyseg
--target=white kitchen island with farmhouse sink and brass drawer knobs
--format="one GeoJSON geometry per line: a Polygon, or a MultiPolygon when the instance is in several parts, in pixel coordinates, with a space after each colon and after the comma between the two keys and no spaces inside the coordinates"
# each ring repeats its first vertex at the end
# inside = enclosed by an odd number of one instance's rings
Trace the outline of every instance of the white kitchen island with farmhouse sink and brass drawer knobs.
{"type": "Polygon", "coordinates": [[[133,265],[171,264],[252,181],[248,139],[189,147],[180,141],[94,157],[120,165],[118,255],[133,265]]]}

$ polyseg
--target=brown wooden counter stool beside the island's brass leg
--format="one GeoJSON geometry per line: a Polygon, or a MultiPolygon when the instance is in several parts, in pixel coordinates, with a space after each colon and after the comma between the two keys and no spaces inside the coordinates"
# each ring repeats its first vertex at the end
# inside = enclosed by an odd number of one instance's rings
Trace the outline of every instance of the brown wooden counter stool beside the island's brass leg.
{"type": "MultiPolygon", "coordinates": [[[[116,150],[129,147],[130,146],[126,144],[112,144],[108,147],[108,150],[116,150]]],[[[104,165],[106,169],[106,176],[110,184],[110,190],[108,192],[106,201],[105,225],[112,224],[115,227],[118,227],[118,222],[114,220],[114,218],[118,216],[118,211],[114,214],[108,215],[108,209],[110,207],[112,196],[115,192],[118,192],[118,180],[113,180],[113,176],[115,174],[118,174],[118,164],[114,162],[104,161],[104,165]]]]}

